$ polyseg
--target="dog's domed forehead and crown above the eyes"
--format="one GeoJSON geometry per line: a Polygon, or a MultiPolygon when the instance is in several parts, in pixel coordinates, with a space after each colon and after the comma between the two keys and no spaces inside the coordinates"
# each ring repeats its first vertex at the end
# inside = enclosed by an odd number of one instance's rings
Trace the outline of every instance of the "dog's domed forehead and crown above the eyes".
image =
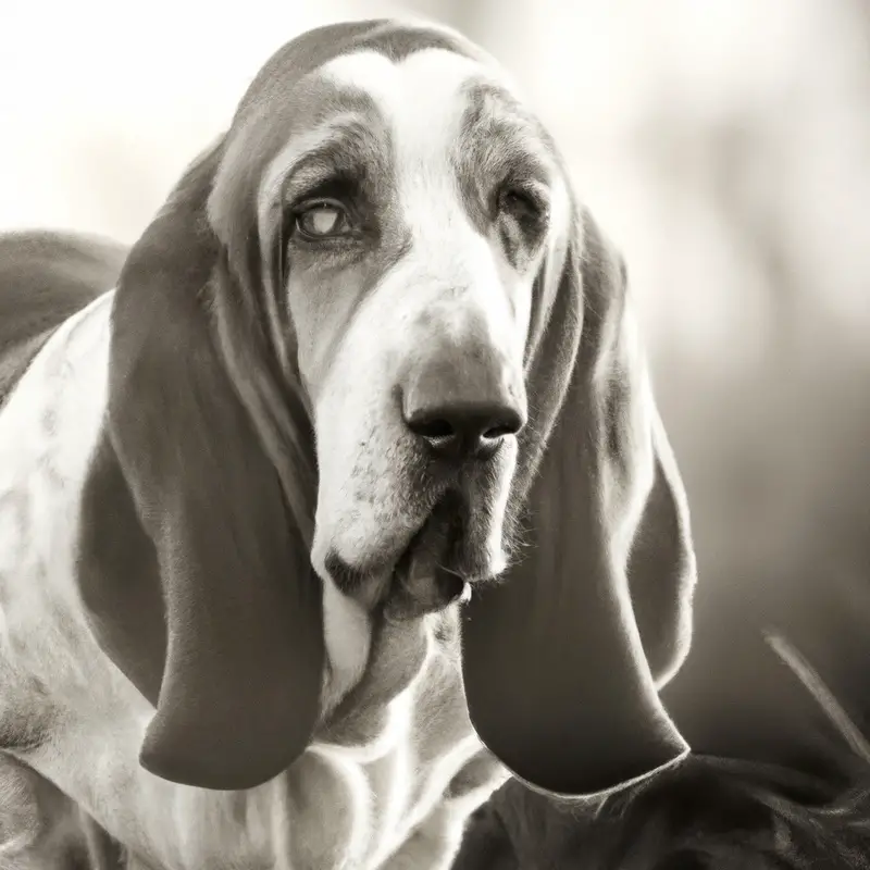
{"type": "Polygon", "coordinates": [[[274,55],[239,107],[222,174],[247,175],[261,199],[282,195],[290,173],[297,184],[376,174],[386,154],[445,176],[458,162],[542,183],[558,174],[546,130],[493,59],[451,32],[389,23],[321,28],[274,55]]]}

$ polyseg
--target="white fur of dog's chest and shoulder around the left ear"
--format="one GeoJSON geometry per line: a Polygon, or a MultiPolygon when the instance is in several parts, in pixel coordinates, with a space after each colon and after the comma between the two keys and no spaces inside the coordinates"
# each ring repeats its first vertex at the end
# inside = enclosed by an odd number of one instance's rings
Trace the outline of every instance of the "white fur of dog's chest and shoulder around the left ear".
{"type": "Polygon", "coordinates": [[[0,412],[0,733],[11,755],[161,870],[449,866],[504,778],[468,722],[455,644],[430,644],[376,758],[312,745],[282,776],[208,792],[139,767],[152,710],[95,642],[75,576],[78,501],[107,399],[107,294],[46,345],[0,412]],[[17,731],[16,731],[17,730],[17,731]]]}

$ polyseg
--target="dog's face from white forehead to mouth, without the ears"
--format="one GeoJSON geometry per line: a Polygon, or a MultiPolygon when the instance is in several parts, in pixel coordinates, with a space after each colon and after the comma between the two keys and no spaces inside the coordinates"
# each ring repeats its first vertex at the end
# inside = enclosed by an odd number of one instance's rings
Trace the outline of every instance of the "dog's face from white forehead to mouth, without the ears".
{"type": "Polygon", "coordinates": [[[304,123],[257,201],[314,424],[314,568],[370,602],[397,566],[492,577],[533,285],[568,214],[556,159],[492,64],[444,48],[344,54],[287,101],[304,123]]]}

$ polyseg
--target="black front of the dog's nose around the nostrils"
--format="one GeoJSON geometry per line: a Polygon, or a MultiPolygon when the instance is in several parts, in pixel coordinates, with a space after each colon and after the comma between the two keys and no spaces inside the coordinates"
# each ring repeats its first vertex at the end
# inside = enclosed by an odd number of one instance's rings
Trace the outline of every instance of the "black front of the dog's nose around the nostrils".
{"type": "Polygon", "coordinates": [[[513,403],[492,400],[423,403],[407,409],[405,422],[445,459],[488,459],[523,426],[513,403]]]}

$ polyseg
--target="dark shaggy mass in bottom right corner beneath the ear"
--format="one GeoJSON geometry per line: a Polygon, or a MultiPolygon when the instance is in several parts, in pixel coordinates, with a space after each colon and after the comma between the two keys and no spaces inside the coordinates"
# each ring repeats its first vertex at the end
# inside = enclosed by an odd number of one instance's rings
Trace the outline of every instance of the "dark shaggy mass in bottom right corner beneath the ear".
{"type": "Polygon", "coordinates": [[[456,870],[863,870],[867,787],[754,762],[693,758],[604,806],[511,781],[471,820],[456,870]]]}

